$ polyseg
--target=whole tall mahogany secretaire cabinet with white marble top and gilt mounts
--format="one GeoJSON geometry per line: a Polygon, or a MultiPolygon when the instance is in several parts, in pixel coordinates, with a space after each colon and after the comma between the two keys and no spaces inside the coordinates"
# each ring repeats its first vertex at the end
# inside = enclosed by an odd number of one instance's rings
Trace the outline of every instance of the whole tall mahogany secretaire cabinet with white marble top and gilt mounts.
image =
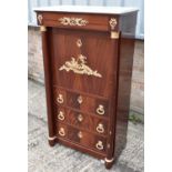
{"type": "Polygon", "coordinates": [[[42,34],[49,143],[104,160],[127,143],[138,10],[37,8],[42,34]]]}

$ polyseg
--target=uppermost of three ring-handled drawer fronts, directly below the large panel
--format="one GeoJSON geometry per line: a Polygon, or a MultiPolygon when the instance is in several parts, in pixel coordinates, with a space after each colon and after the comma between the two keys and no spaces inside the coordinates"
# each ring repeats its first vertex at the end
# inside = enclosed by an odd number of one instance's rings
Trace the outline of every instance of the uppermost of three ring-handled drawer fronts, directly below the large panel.
{"type": "Polygon", "coordinates": [[[55,89],[55,103],[58,105],[70,107],[82,112],[97,114],[100,117],[109,115],[109,102],[105,99],[85,95],[79,92],[55,89]]]}

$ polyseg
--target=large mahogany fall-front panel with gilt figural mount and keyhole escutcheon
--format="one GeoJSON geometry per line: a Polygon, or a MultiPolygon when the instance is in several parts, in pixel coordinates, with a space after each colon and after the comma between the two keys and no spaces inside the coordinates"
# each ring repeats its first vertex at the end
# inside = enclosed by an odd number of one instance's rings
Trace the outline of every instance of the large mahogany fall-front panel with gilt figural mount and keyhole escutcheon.
{"type": "Polygon", "coordinates": [[[53,85],[110,98],[117,54],[109,32],[50,30],[53,85]]]}

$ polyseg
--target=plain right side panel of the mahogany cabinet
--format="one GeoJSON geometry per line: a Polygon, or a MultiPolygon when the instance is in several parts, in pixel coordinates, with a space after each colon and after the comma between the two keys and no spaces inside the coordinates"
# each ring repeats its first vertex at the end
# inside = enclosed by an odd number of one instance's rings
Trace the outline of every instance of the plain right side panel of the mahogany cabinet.
{"type": "Polygon", "coordinates": [[[134,53],[136,12],[120,18],[120,45],[119,45],[119,80],[115,125],[115,150],[118,158],[127,143],[128,117],[130,111],[131,78],[134,53]]]}

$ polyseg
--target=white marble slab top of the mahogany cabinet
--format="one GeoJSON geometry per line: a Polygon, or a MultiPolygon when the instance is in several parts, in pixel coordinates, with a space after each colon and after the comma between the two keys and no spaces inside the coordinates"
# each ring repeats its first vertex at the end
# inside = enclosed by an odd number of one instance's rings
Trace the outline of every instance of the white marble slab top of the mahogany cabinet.
{"type": "Polygon", "coordinates": [[[77,12],[77,13],[103,13],[103,14],[123,14],[138,11],[133,7],[95,7],[95,6],[53,6],[33,8],[34,11],[51,11],[51,12],[77,12]]]}

